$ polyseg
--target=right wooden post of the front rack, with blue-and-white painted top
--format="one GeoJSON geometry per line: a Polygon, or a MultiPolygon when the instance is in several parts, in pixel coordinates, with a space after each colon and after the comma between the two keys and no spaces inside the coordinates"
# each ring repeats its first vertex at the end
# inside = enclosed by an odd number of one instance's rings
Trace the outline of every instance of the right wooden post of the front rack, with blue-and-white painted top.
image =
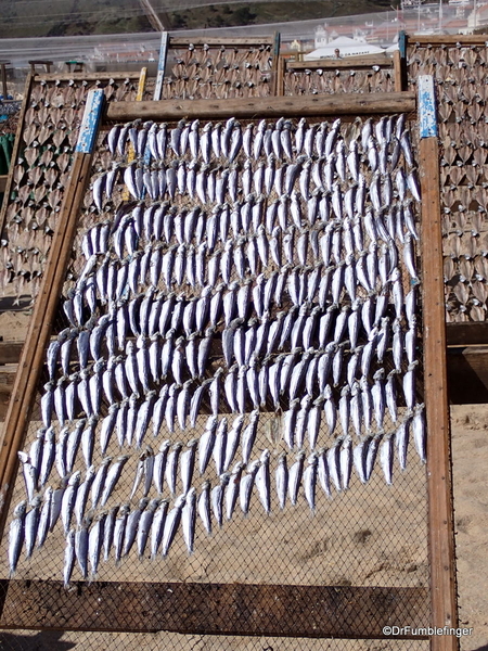
{"type": "MultiPolygon", "coordinates": [[[[458,625],[458,603],[452,524],[439,150],[434,78],[421,75],[418,87],[432,625],[444,628],[458,625]]],[[[458,638],[450,635],[433,636],[431,649],[454,651],[458,649],[458,638]]]]}

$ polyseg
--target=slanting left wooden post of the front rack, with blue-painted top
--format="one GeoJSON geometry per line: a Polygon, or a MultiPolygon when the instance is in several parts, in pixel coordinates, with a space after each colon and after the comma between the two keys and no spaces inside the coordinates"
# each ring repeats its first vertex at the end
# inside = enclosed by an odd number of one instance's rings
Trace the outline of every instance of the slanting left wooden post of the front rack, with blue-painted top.
{"type": "Polygon", "coordinates": [[[87,98],[69,181],[65,189],[40,292],[36,298],[26,345],[22,350],[7,412],[5,427],[0,438],[0,538],[5,526],[9,502],[15,482],[18,464],[17,451],[24,443],[29,423],[44,361],[46,347],[72,254],[78,210],[90,178],[92,153],[102,113],[103,98],[103,90],[92,90],[87,98]]]}

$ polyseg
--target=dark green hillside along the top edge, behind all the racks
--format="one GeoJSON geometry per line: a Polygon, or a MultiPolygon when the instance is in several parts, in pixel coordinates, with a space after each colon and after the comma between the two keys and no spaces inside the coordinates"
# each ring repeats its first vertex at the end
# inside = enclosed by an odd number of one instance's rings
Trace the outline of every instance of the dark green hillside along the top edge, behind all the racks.
{"type": "MultiPolygon", "coordinates": [[[[389,0],[319,0],[207,4],[152,0],[169,29],[231,27],[386,11],[389,0]]],[[[0,38],[152,31],[136,0],[0,0],[0,38]]]]}

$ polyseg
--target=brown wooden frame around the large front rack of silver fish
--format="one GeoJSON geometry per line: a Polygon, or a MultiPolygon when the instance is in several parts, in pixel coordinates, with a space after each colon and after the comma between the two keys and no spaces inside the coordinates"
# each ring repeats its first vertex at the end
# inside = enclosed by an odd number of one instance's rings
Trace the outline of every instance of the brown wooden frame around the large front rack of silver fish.
{"type": "MultiPolygon", "coordinates": [[[[422,102],[420,102],[422,104],[422,102]]],[[[271,115],[324,114],[390,114],[411,112],[415,95],[409,92],[380,95],[352,95],[337,104],[337,99],[271,98],[254,101],[166,101],[127,102],[108,106],[106,118],[128,120],[132,117],[159,119],[196,116],[214,119],[224,115],[255,117],[271,115]],[[316,100],[316,101],[314,101],[316,100]],[[240,110],[237,111],[237,108],[240,110]],[[137,112],[134,114],[134,112],[137,112]],[[206,113],[205,113],[206,112],[206,113]]],[[[423,111],[424,104],[422,104],[423,111]]],[[[70,181],[65,194],[41,293],[36,302],[28,342],[21,358],[8,423],[0,452],[2,489],[0,531],[4,528],[7,506],[16,470],[16,450],[23,443],[26,424],[35,398],[37,381],[60,296],[67,260],[76,230],[76,216],[90,169],[91,154],[76,154],[70,181]]],[[[429,488],[429,542],[432,562],[432,623],[457,625],[455,585],[453,583],[452,510],[450,502],[449,432],[446,386],[446,358],[439,355],[445,345],[444,283],[441,275],[440,209],[438,152],[435,136],[421,140],[421,169],[424,242],[424,304],[431,309],[425,316],[426,383],[429,488]],[[437,176],[436,176],[437,175],[437,176]],[[437,180],[437,182],[436,182],[437,180]],[[439,263],[440,256],[440,263],[439,263]],[[441,318],[439,314],[441,310],[441,318]],[[442,348],[441,348],[442,349],[442,348]],[[446,565],[447,563],[447,565],[446,565]],[[446,570],[446,566],[448,570],[446,570]]],[[[180,633],[214,633],[229,635],[288,635],[294,637],[382,638],[383,625],[426,626],[428,590],[425,588],[364,588],[355,586],[249,586],[247,584],[78,584],[76,596],[66,592],[61,582],[3,582],[0,626],[63,627],[90,630],[178,630],[180,633]],[[171,590],[171,598],[168,597],[171,590]],[[177,595],[174,597],[172,595],[177,595]],[[121,599],[121,596],[124,597],[121,599]],[[206,599],[203,599],[206,596],[206,599]],[[211,598],[208,598],[210,596],[211,598]],[[75,598],[76,597],[76,598],[75,598]],[[144,622],[134,604],[144,602],[144,622]],[[30,607],[36,603],[36,613],[30,607]],[[202,605],[204,603],[204,605],[202,605]],[[219,608],[216,609],[215,604],[219,608]],[[41,604],[41,605],[39,605],[41,604]],[[187,604],[187,610],[182,607],[187,604]],[[195,605],[196,604],[196,605],[195,605]],[[209,609],[202,615],[202,608],[209,609]],[[408,608],[407,608],[408,605],[408,608]],[[146,607],[146,608],[145,608],[146,607]],[[39,608],[42,610],[39,611],[39,608]],[[204,625],[197,625],[196,611],[204,625]],[[296,612],[296,621],[283,613],[296,612]],[[27,613],[22,614],[21,613],[27,613]],[[84,621],[80,622],[80,613],[84,621]],[[116,613],[119,615],[117,625],[116,613]],[[326,613],[326,616],[324,616],[326,613]],[[350,613],[347,627],[345,615],[350,613]],[[282,616],[280,616],[280,614],[282,616]],[[24,618],[22,618],[24,617],[24,618]],[[172,617],[172,618],[171,618],[172,617]],[[386,624],[385,624],[386,623],[386,624]],[[119,626],[119,627],[118,627],[119,626]]],[[[401,636],[400,636],[401,637],[401,636]]],[[[408,636],[406,636],[408,637],[408,636]]],[[[419,639],[415,637],[415,639],[419,639]]],[[[435,651],[455,649],[455,639],[435,636],[435,651]]]]}

